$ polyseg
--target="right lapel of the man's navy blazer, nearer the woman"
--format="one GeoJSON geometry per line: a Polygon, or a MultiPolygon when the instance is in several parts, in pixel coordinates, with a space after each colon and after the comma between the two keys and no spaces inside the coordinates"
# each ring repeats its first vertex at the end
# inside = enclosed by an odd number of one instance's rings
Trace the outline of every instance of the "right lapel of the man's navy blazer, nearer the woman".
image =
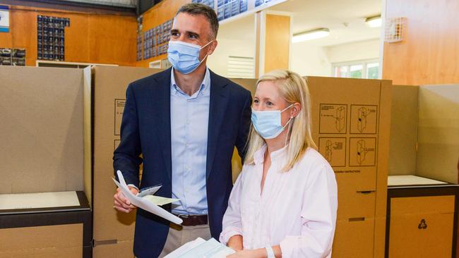
{"type": "Polygon", "coordinates": [[[229,99],[226,80],[222,80],[220,76],[215,75],[212,71],[210,71],[210,85],[207,160],[205,169],[206,180],[212,171],[220,128],[225,118],[224,114],[229,99]]]}

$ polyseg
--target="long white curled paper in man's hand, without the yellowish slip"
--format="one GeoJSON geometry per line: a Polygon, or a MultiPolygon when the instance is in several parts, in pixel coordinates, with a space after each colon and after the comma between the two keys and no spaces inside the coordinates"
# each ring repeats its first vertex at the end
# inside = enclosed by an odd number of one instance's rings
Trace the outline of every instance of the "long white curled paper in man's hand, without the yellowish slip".
{"type": "MultiPolygon", "coordinates": [[[[157,216],[160,216],[163,219],[167,219],[168,221],[171,221],[172,223],[181,224],[183,222],[179,217],[167,212],[165,209],[162,209],[161,207],[158,207],[157,204],[155,204],[154,202],[151,202],[149,199],[145,197],[138,197],[134,195],[131,192],[131,190],[129,190],[128,186],[126,185],[126,181],[124,180],[124,177],[121,171],[117,171],[117,175],[118,175],[119,182],[115,180],[114,178],[112,179],[114,183],[118,186],[118,188],[121,190],[121,192],[123,192],[123,194],[126,196],[126,198],[129,199],[131,204],[141,209],[144,209],[145,211],[149,211],[157,216]]],[[[157,198],[157,199],[158,200],[162,199],[162,197],[157,198]]],[[[169,199],[169,198],[165,198],[165,199],[169,199]]]]}

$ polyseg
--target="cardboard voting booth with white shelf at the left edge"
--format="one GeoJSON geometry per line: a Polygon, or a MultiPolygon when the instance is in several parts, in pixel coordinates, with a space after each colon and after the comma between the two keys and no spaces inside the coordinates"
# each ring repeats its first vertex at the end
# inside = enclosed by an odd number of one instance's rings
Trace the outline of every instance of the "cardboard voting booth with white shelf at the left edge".
{"type": "Polygon", "coordinates": [[[0,77],[0,257],[90,257],[83,71],[2,67],[0,77]],[[64,203],[66,193],[76,200],[64,203]],[[48,194],[40,204],[28,199],[48,194]]]}

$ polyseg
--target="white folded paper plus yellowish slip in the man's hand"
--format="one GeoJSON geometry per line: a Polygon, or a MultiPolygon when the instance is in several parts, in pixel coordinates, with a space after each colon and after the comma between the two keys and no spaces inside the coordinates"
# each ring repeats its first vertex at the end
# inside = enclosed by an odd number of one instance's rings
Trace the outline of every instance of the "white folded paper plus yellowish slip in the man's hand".
{"type": "MultiPolygon", "coordinates": [[[[121,189],[121,192],[123,192],[126,198],[129,199],[131,204],[141,209],[144,209],[145,211],[149,211],[157,216],[160,216],[163,219],[167,219],[168,221],[171,221],[173,223],[181,224],[183,222],[179,217],[167,212],[165,209],[162,209],[161,207],[158,206],[158,205],[168,204],[171,202],[177,202],[178,199],[170,199],[170,198],[165,198],[165,197],[160,197],[160,196],[154,196],[153,194],[145,195],[143,197],[134,195],[131,192],[131,190],[129,190],[128,186],[126,185],[126,181],[124,180],[124,177],[121,171],[117,171],[117,175],[118,175],[119,182],[115,180],[114,178],[112,179],[114,180],[114,183],[118,186],[118,188],[121,189]]],[[[157,187],[157,189],[159,188],[160,187],[157,187]]]]}

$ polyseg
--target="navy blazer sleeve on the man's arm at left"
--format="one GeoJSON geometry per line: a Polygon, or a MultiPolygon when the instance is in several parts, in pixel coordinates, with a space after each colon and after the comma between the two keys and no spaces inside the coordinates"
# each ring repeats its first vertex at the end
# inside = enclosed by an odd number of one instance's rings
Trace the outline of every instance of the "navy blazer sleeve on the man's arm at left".
{"type": "Polygon", "coordinates": [[[117,176],[116,172],[121,171],[126,184],[135,185],[138,188],[138,170],[142,163],[140,157],[142,149],[138,130],[136,97],[132,85],[129,85],[126,90],[126,104],[120,132],[121,142],[113,155],[114,174],[117,176]]]}

